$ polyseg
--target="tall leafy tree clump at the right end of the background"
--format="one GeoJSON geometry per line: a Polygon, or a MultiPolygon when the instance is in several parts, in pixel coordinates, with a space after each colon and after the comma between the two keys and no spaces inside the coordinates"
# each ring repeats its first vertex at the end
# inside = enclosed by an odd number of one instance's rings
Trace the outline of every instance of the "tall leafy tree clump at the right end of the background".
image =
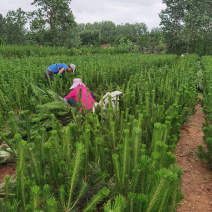
{"type": "Polygon", "coordinates": [[[211,54],[212,1],[163,0],[159,14],[169,53],[211,54]]]}

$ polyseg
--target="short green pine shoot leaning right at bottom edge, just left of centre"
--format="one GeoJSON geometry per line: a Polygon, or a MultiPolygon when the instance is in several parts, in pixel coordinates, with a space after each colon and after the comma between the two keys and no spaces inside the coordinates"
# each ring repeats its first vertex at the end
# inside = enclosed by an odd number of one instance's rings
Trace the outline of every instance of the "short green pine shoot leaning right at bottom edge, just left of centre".
{"type": "Polygon", "coordinates": [[[96,205],[105,199],[110,193],[110,190],[106,187],[102,188],[96,195],[92,197],[89,203],[83,208],[82,212],[94,211],[96,205]]]}

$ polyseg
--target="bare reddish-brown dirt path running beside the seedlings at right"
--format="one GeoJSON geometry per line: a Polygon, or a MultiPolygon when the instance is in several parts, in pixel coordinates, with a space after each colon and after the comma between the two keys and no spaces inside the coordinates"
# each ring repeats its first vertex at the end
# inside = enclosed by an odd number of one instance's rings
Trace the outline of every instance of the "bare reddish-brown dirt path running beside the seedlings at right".
{"type": "Polygon", "coordinates": [[[182,127],[181,138],[175,149],[177,164],[183,167],[184,194],[177,212],[212,211],[212,173],[207,163],[197,157],[197,146],[205,148],[202,138],[202,123],[205,119],[201,106],[197,105],[196,109],[197,112],[182,127]]]}

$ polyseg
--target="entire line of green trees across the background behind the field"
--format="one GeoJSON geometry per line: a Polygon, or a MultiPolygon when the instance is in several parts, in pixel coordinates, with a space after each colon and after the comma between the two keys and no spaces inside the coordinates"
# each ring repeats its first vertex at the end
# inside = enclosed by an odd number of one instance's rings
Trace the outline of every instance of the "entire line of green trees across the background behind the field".
{"type": "Polygon", "coordinates": [[[77,24],[71,0],[34,0],[35,11],[19,8],[6,17],[0,14],[0,43],[67,48],[109,44],[142,53],[212,54],[212,1],[162,2],[166,9],[159,14],[160,27],[148,30],[145,23],[77,24]]]}

